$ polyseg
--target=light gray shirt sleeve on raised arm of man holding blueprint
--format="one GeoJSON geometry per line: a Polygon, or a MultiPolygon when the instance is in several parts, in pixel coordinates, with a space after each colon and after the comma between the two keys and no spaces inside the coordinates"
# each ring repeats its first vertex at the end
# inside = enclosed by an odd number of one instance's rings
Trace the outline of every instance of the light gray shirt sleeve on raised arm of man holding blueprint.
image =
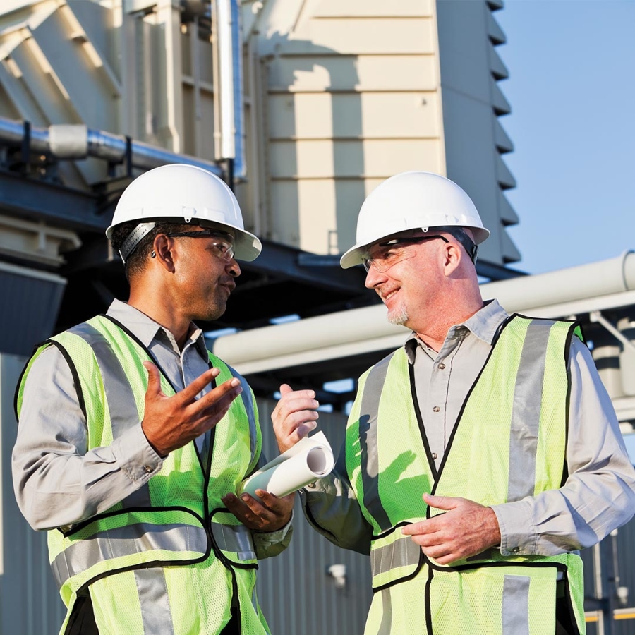
{"type": "Polygon", "coordinates": [[[71,369],[54,346],[25,383],[13,447],[13,488],[34,529],[71,526],[131,495],[161,469],[140,422],[107,447],[88,450],[71,369]]]}

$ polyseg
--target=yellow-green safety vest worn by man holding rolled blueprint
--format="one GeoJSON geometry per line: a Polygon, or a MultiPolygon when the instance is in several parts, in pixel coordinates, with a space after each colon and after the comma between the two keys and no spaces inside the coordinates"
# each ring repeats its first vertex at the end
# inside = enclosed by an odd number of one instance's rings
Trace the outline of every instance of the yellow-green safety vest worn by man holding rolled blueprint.
{"type": "MultiPolygon", "coordinates": [[[[18,385],[18,417],[28,372],[48,346],[61,351],[73,373],[88,449],[108,446],[143,420],[147,370],[142,362],[156,361],[126,327],[105,315],[37,348],[18,385]]],[[[209,356],[220,370],[218,383],[240,378],[209,356]]],[[[243,635],[269,633],[255,596],[258,564],[250,530],[220,499],[238,491],[260,456],[255,400],[244,380],[242,385],[241,398],[212,430],[207,466],[191,442],[171,452],[155,476],[107,512],[49,531],[49,562],[68,607],[61,633],[75,632],[73,607],[87,589],[97,623],[124,619],[126,635],[217,633],[232,607],[241,615],[243,635]],[[202,588],[181,588],[179,567],[186,565],[197,569],[202,588]],[[97,590],[116,602],[104,605],[97,590]],[[201,605],[203,615],[196,615],[201,605]]],[[[161,387],[164,394],[175,393],[163,373],[161,387]]]]}

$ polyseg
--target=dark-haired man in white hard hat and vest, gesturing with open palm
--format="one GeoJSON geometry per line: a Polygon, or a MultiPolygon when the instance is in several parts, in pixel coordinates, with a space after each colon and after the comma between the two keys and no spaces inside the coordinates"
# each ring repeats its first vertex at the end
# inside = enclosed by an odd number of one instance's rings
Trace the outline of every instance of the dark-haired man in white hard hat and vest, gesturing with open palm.
{"type": "Polygon", "coordinates": [[[16,394],[13,483],[68,609],[63,634],[265,635],[258,559],[291,538],[293,495],[236,496],[263,462],[250,387],[207,351],[258,238],[211,172],[152,169],[107,236],[128,302],[37,347],[16,394]]]}

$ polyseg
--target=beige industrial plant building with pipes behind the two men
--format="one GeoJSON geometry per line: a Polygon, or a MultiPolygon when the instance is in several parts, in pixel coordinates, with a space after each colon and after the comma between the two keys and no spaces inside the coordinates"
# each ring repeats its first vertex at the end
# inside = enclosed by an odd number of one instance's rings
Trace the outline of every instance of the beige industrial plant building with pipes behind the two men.
{"type": "MultiPolygon", "coordinates": [[[[502,0],[4,0],[0,634],[55,633],[64,613],[46,538],[13,500],[18,375],[34,344],[126,300],[104,230],[123,188],[161,164],[221,176],[262,239],[226,313],[201,326],[253,387],[267,456],[281,382],[316,390],[337,448],[356,377],[404,339],[363,270],[341,270],[339,255],[365,195],[406,169],[444,174],[476,203],[492,231],[477,265],[484,297],[581,320],[633,432],[635,255],[540,276],[514,269],[499,10],[502,0]]],[[[260,565],[272,631],[361,634],[368,560],[301,515],[291,548],[260,565]]],[[[635,526],[583,557],[588,632],[635,633],[635,526]]]]}

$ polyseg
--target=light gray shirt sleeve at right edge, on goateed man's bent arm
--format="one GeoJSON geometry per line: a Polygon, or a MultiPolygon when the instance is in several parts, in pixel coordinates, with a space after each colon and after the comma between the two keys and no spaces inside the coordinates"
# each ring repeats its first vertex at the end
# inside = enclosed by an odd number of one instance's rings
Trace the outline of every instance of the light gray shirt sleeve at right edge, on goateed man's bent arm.
{"type": "Polygon", "coordinates": [[[635,512],[635,470],[591,353],[577,339],[570,364],[569,476],[558,490],[492,506],[503,555],[590,547],[635,512]]]}

